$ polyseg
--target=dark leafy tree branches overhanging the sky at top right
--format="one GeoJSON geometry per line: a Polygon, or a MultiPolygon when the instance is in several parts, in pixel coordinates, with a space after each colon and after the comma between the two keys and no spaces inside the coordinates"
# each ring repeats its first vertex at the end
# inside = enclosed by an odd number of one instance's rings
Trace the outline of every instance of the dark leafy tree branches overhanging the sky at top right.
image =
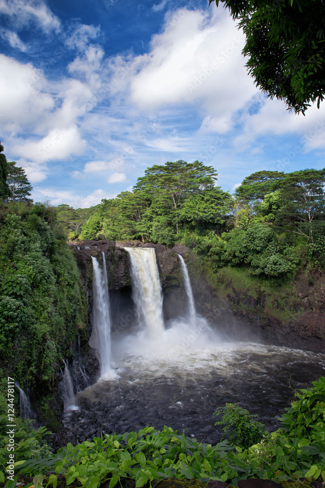
{"type": "Polygon", "coordinates": [[[295,113],[325,94],[323,0],[209,0],[228,7],[246,35],[243,54],[256,85],[295,113]]]}

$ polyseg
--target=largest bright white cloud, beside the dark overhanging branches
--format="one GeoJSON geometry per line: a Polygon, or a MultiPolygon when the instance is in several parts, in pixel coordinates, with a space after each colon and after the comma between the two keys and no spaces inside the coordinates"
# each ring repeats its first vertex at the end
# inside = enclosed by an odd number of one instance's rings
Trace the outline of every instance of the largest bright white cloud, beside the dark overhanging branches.
{"type": "Polygon", "coordinates": [[[244,67],[243,34],[227,12],[182,9],[167,16],[151,51],[110,61],[112,93],[130,93],[144,111],[193,104],[207,115],[203,129],[226,132],[233,114],[258,93],[244,67]]]}

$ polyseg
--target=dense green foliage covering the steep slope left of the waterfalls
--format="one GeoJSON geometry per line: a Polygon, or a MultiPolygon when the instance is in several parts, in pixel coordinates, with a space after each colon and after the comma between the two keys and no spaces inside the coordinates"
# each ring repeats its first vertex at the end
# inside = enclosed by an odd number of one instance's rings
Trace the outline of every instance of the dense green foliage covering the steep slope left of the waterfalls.
{"type": "Polygon", "coordinates": [[[85,299],[53,208],[10,202],[1,210],[0,367],[39,398],[51,394],[62,355],[85,327],[85,299]]]}

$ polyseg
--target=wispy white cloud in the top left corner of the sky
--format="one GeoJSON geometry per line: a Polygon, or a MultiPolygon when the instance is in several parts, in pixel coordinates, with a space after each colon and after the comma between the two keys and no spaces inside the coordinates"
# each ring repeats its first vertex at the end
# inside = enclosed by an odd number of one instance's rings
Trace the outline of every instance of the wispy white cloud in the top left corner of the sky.
{"type": "Polygon", "coordinates": [[[59,32],[60,20],[43,1],[0,0],[0,14],[9,18],[16,29],[36,25],[46,34],[59,32]]]}

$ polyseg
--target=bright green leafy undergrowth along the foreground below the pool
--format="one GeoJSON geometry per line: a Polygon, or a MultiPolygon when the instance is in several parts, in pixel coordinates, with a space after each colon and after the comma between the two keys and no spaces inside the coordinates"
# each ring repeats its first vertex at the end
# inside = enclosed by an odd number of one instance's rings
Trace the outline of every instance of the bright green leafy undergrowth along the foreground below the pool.
{"type": "MultiPolygon", "coordinates": [[[[36,488],[56,488],[62,475],[65,484],[73,488],[98,488],[106,481],[113,488],[130,478],[138,488],[166,478],[219,480],[232,485],[247,478],[325,480],[325,377],[312,385],[296,392],[297,399],[280,419],[282,428],[275,432],[268,434],[246,410],[231,407],[222,423],[231,427],[232,420],[244,414],[236,424],[240,442],[230,436],[230,441],[211,446],[166,426],[162,431],[145,427],[139,432],[105,434],[77,446],[69,443],[43,459],[19,460],[16,476],[5,488],[16,487],[17,475],[34,477],[36,488]],[[250,436],[252,428],[257,437],[250,436]],[[261,440],[248,448],[240,447],[249,436],[251,442],[261,440]],[[49,471],[52,474],[46,475],[49,471]]],[[[1,464],[0,480],[4,482],[8,474],[4,458],[1,464]]]]}

